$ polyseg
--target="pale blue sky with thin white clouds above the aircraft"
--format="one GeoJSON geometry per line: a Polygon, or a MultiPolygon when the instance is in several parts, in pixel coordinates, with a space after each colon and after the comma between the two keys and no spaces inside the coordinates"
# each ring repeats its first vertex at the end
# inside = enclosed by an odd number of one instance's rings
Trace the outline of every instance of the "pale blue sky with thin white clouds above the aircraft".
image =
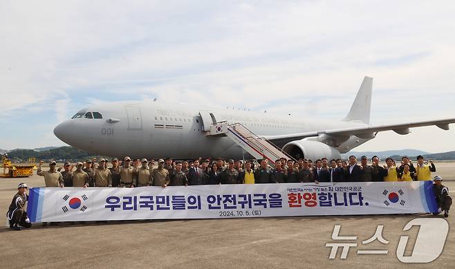
{"type": "MultiPolygon", "coordinates": [[[[53,128],[87,104],[152,96],[340,119],[364,75],[372,123],[455,118],[454,14],[452,1],[1,1],[0,148],[64,145],[53,128]]],[[[449,151],[454,137],[384,132],[356,150],[449,151]]]]}

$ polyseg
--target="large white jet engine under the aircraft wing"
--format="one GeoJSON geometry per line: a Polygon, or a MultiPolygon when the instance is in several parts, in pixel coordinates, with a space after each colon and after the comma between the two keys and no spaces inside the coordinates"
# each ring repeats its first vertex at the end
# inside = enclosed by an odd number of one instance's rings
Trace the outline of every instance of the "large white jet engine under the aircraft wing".
{"type": "Polygon", "coordinates": [[[288,142],[284,145],[283,150],[295,159],[306,158],[315,161],[324,157],[328,160],[341,158],[338,149],[314,140],[303,139],[288,142]]]}

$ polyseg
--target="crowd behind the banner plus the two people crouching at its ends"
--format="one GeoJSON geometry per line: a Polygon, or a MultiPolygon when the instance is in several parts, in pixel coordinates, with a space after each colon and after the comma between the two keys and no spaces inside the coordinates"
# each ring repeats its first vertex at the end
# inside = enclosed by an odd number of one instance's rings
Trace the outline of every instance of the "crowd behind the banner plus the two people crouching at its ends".
{"type": "MultiPolygon", "coordinates": [[[[341,183],[341,182],[380,182],[432,180],[431,172],[436,171],[434,163],[425,162],[423,156],[417,157],[417,164],[411,163],[407,156],[402,157],[397,167],[392,158],[386,159],[386,165],[379,165],[378,156],[371,158],[371,165],[366,156],[360,164],[355,156],[349,156],[349,163],[344,160],[318,159],[315,162],[300,158],[297,161],[281,158],[272,168],[266,158],[260,160],[223,160],[221,158],[198,158],[174,161],[171,158],[155,160],[146,158],[131,160],[128,156],[122,161],[118,158],[109,161],[101,158],[86,160],[85,163],[64,163],[57,169],[55,160],[49,163],[49,169],[42,169],[39,163],[37,174],[44,176],[46,187],[145,187],[145,186],[187,186],[187,185],[225,185],[259,183],[341,183]]],[[[448,216],[452,200],[448,189],[442,185],[442,178],[434,179],[434,193],[440,211],[448,216]]],[[[8,210],[10,228],[20,230],[28,227],[30,221],[24,211],[28,200],[27,186],[21,183],[18,193],[13,198],[8,210]]]]}

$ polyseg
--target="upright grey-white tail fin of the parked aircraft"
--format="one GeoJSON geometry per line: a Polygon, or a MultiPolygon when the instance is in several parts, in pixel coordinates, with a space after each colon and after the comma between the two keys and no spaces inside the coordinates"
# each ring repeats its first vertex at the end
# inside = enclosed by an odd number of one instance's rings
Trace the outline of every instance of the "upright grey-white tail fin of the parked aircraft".
{"type": "Polygon", "coordinates": [[[373,77],[364,77],[362,85],[360,86],[360,89],[351,106],[351,110],[343,119],[345,122],[358,121],[365,124],[370,123],[372,86],[373,77]]]}

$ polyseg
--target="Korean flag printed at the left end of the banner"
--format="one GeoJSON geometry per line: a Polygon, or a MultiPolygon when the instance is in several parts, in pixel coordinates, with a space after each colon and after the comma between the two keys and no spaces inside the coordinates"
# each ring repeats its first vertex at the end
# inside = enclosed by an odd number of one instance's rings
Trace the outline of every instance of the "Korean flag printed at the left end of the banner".
{"type": "Polygon", "coordinates": [[[64,192],[57,196],[55,213],[57,215],[91,214],[92,203],[89,192],[77,194],[64,192]]]}

